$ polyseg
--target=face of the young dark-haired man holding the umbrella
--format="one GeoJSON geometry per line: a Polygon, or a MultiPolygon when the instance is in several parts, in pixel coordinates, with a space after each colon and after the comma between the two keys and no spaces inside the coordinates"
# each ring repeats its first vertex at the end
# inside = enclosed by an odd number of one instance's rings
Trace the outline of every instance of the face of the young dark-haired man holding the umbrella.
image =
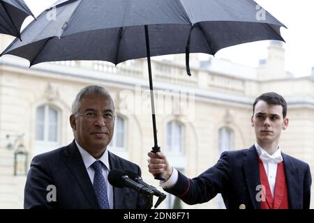
{"type": "Polygon", "coordinates": [[[287,128],[288,121],[288,118],[283,118],[281,105],[269,105],[263,100],[256,103],[251,118],[257,141],[262,143],[279,141],[281,131],[287,128]]]}

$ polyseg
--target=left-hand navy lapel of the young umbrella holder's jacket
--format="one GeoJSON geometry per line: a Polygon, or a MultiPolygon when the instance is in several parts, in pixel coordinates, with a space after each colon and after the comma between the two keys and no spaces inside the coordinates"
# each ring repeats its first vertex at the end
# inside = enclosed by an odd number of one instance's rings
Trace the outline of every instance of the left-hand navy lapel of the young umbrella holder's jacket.
{"type": "Polygon", "coordinates": [[[244,158],[244,174],[246,178],[246,185],[248,186],[248,192],[255,209],[260,209],[260,202],[257,202],[256,195],[257,185],[260,185],[260,168],[258,165],[258,156],[255,146],[246,151],[246,158],[244,158]]]}

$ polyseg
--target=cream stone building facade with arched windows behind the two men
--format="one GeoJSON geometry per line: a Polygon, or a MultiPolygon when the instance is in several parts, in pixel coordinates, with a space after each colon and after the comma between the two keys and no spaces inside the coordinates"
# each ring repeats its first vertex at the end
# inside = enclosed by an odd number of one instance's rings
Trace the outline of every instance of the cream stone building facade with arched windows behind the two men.
{"type": "MultiPolygon", "coordinates": [[[[0,37],[1,50],[10,40],[0,37]]],[[[257,68],[223,59],[200,62],[192,55],[192,77],[186,75],[184,55],[152,61],[158,144],[174,167],[197,176],[214,165],[222,151],[253,145],[253,100],[276,91],[286,98],[290,118],[281,149],[308,162],[314,172],[314,77],[285,72],[285,50],[278,43],[271,43],[268,50],[269,56],[257,68]]],[[[15,162],[15,151],[21,145],[27,151],[29,168],[34,155],[69,144],[70,106],[76,93],[89,84],[105,86],[116,105],[110,151],[139,164],[144,180],[158,186],[147,171],[147,152],[154,145],[148,83],[145,59],[118,66],[67,61],[29,68],[24,59],[1,57],[0,208],[22,208],[26,176],[14,175],[15,163],[21,164],[15,162]]],[[[174,203],[168,196],[160,208],[172,208],[174,203]]],[[[196,206],[180,205],[223,208],[219,197],[196,206]]]]}

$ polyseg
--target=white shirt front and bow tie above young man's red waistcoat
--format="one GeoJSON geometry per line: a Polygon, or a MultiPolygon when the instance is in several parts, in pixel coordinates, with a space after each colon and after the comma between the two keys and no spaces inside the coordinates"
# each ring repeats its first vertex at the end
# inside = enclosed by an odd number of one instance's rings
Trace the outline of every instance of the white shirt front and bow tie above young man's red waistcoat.
{"type": "Polygon", "coordinates": [[[278,147],[276,152],[269,155],[261,146],[255,142],[255,148],[257,154],[260,156],[264,169],[267,174],[269,187],[271,190],[271,195],[274,197],[275,185],[276,185],[276,175],[277,175],[277,164],[283,161],[283,156],[281,155],[281,149],[278,147]]]}

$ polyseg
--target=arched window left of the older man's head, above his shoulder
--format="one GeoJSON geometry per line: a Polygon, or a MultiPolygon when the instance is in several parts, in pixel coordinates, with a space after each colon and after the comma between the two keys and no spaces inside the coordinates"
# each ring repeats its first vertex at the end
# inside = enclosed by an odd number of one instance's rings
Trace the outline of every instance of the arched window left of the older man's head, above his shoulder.
{"type": "Polygon", "coordinates": [[[34,155],[51,151],[60,146],[60,112],[51,105],[36,109],[34,155]]]}

